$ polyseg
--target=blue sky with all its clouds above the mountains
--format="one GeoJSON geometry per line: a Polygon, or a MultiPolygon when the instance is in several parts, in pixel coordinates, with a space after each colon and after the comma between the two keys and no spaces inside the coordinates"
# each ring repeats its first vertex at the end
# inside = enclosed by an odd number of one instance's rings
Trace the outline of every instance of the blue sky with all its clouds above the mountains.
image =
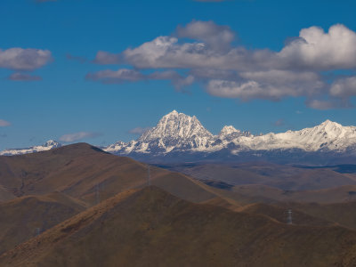
{"type": "Polygon", "coordinates": [[[0,1],[0,150],[356,125],[356,2],[0,1]]]}

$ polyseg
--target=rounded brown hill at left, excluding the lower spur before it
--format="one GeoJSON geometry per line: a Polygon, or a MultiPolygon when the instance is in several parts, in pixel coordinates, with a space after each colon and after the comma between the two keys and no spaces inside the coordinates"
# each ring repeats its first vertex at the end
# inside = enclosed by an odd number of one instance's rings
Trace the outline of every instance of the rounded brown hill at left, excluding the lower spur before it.
{"type": "MultiPolygon", "coordinates": [[[[151,166],[151,183],[180,198],[205,201],[214,195],[184,174],[151,166]]],[[[93,205],[117,192],[148,183],[145,164],[86,143],[27,155],[0,157],[0,185],[16,196],[61,191],[93,205]]]]}

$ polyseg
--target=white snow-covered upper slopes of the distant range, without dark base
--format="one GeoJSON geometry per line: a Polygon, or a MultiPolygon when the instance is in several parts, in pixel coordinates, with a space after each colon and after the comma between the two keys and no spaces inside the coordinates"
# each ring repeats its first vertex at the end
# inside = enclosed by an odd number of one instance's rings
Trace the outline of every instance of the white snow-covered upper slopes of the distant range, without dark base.
{"type": "MultiPolygon", "coordinates": [[[[4,150],[0,156],[20,155],[60,147],[59,142],[50,140],[42,146],[28,149],[4,150]]],[[[285,133],[253,135],[242,132],[232,125],[225,125],[222,131],[211,134],[198,121],[176,110],[162,117],[155,127],[131,142],[115,142],[101,148],[117,155],[150,154],[166,155],[174,152],[212,153],[228,150],[231,154],[240,151],[290,150],[336,151],[356,150],[356,127],[343,126],[326,120],[320,125],[285,133]]]]}

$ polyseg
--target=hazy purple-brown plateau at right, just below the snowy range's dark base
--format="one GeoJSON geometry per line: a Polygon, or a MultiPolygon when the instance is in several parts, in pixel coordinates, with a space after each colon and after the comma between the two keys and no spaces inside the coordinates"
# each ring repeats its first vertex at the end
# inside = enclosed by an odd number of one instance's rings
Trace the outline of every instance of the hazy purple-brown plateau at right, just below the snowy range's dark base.
{"type": "Polygon", "coordinates": [[[181,165],[168,169],[190,175],[202,181],[224,182],[238,186],[262,184],[280,190],[321,190],[343,185],[356,185],[355,174],[340,174],[333,168],[309,169],[269,163],[239,165],[181,165]]]}

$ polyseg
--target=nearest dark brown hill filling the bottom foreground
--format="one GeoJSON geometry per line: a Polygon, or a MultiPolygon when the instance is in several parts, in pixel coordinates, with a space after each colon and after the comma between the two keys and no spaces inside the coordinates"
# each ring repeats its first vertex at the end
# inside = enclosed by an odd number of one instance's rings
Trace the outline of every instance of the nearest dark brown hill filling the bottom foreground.
{"type": "Polygon", "coordinates": [[[0,257],[1,266],[354,266],[356,232],[193,204],[156,187],[119,194],[0,257]]]}

